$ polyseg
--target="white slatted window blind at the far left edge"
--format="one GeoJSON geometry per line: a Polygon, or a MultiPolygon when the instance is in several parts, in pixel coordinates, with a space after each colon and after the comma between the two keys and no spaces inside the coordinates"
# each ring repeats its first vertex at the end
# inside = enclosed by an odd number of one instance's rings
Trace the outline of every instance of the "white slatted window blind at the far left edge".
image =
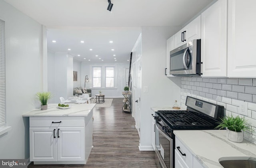
{"type": "Polygon", "coordinates": [[[0,20],[0,126],[6,123],[5,96],[5,34],[4,21],[0,20]]]}

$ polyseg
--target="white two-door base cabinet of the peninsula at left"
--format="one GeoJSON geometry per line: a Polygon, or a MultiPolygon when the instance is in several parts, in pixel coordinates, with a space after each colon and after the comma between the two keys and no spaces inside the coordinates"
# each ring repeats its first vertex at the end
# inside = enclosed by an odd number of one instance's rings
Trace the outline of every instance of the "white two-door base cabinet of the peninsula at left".
{"type": "Polygon", "coordinates": [[[88,117],[30,117],[30,161],[34,164],[86,164],[92,148],[88,117]]]}

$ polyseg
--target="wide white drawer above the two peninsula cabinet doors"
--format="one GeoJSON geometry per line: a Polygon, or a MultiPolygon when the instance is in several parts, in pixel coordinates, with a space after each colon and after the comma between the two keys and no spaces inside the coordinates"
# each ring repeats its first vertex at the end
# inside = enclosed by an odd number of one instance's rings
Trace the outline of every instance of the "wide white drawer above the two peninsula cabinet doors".
{"type": "Polygon", "coordinates": [[[30,127],[85,126],[84,117],[29,117],[30,127]]]}

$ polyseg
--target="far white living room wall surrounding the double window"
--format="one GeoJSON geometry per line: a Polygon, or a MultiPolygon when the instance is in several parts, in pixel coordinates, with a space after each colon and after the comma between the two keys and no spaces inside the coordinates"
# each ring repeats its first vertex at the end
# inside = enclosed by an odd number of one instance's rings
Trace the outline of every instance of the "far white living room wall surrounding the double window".
{"type": "Polygon", "coordinates": [[[99,94],[99,91],[102,91],[102,94],[105,97],[123,97],[122,91],[126,86],[126,69],[129,68],[130,63],[81,63],[81,86],[84,87],[84,77],[88,75],[90,82],[86,83],[87,89],[92,89],[92,97],[95,97],[96,94],[99,94]],[[92,88],[92,72],[90,71],[90,65],[116,65],[117,72],[117,87],[115,89],[94,89],[92,88]]]}

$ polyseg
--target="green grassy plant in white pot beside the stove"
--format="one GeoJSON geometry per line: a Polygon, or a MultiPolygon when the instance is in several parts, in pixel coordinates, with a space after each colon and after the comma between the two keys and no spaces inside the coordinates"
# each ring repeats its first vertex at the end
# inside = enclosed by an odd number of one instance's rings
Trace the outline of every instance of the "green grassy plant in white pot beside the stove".
{"type": "Polygon", "coordinates": [[[226,136],[232,142],[242,142],[244,139],[244,130],[250,130],[244,117],[239,116],[226,116],[218,124],[216,128],[226,128],[226,136]]]}

